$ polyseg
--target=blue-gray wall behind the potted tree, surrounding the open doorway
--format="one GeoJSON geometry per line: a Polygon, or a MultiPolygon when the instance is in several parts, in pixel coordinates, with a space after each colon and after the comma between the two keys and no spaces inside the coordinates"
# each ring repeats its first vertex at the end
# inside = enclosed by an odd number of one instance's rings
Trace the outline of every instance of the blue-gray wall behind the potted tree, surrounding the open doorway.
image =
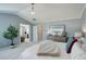
{"type": "MultiPolygon", "coordinates": [[[[0,47],[5,47],[10,44],[10,40],[7,40],[3,38],[3,31],[7,30],[10,24],[19,28],[20,30],[20,24],[29,24],[32,27],[32,24],[27,21],[23,20],[22,17],[14,15],[14,14],[8,14],[8,13],[0,13],[0,47]]],[[[32,28],[30,28],[32,33],[32,28]]],[[[32,37],[33,38],[33,37],[32,37]]],[[[20,34],[19,37],[14,40],[15,43],[20,42],[20,34]]]]}

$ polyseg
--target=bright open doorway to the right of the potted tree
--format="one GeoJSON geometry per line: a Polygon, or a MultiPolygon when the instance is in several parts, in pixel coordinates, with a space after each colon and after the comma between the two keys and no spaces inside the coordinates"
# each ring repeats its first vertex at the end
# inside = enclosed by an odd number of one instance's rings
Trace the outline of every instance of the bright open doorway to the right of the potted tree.
{"type": "Polygon", "coordinates": [[[20,41],[21,42],[29,42],[29,25],[26,24],[20,24],[20,41]]]}

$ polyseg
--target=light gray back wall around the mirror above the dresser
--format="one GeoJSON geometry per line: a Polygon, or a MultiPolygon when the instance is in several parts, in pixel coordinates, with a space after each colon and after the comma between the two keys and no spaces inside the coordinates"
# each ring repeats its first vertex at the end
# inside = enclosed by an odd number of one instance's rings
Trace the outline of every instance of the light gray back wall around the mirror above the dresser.
{"type": "Polygon", "coordinates": [[[76,31],[81,31],[81,20],[79,18],[45,23],[44,24],[44,34],[42,34],[44,39],[46,39],[46,36],[47,36],[46,33],[50,25],[65,25],[65,30],[67,33],[67,36],[74,35],[74,33],[76,33],[76,31]]]}

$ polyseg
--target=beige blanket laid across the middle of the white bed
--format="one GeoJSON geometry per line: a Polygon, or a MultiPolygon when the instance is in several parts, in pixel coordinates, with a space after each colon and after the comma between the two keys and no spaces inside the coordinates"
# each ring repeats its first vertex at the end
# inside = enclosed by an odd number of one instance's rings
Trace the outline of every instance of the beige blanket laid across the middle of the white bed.
{"type": "Polygon", "coordinates": [[[59,56],[60,50],[53,41],[46,41],[39,44],[37,55],[59,56]]]}

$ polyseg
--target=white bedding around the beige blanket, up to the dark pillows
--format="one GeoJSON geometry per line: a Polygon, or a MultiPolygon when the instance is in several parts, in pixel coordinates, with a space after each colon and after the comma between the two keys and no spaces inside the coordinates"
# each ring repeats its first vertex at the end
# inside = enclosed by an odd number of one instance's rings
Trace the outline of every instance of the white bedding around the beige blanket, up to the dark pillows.
{"type": "MultiPolygon", "coordinates": [[[[48,42],[50,40],[46,40],[46,41],[42,41],[44,43],[48,42]]],[[[40,43],[42,43],[40,42],[40,43]]],[[[65,44],[66,43],[58,43],[58,42],[54,42],[56,44],[59,46],[60,48],[60,52],[61,52],[61,55],[60,56],[45,56],[45,55],[37,55],[37,52],[38,52],[38,48],[39,48],[39,44],[35,44],[28,49],[26,49],[19,59],[23,59],[23,60],[69,60],[70,59],[70,54],[66,54],[66,51],[65,51],[65,44]]]]}

